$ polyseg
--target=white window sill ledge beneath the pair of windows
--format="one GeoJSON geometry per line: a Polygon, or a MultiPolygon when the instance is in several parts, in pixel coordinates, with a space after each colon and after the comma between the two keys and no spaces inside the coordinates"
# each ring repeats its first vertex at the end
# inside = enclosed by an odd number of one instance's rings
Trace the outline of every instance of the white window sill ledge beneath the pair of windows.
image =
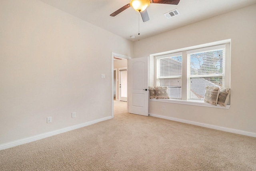
{"type": "Polygon", "coordinates": [[[178,103],[185,105],[196,105],[196,106],[204,106],[204,107],[216,107],[222,109],[229,109],[230,105],[220,106],[220,105],[211,105],[209,103],[204,103],[204,101],[193,101],[193,100],[180,100],[180,99],[150,99],[150,101],[158,101],[158,102],[166,102],[166,103],[178,103]]]}

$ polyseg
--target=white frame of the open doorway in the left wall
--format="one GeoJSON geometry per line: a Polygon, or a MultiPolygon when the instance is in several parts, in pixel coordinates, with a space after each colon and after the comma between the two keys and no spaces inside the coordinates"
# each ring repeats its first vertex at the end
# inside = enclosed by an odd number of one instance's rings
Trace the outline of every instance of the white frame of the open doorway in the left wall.
{"type": "MultiPolygon", "coordinates": [[[[130,56],[126,56],[126,55],[122,55],[122,54],[118,54],[115,52],[111,52],[111,117],[114,117],[114,57],[118,57],[118,58],[124,58],[127,60],[127,71],[129,68],[129,59],[132,59],[130,56]]],[[[127,72],[127,79],[129,79],[129,74],[127,72]]],[[[127,85],[127,94],[129,93],[129,85],[127,85]]],[[[127,113],[129,113],[128,111],[128,99],[129,97],[127,96],[127,113]]]]}

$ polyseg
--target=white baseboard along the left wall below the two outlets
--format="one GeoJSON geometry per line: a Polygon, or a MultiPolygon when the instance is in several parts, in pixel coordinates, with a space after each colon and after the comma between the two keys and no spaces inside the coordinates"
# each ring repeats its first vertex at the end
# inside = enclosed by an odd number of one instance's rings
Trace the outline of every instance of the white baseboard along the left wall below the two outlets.
{"type": "Polygon", "coordinates": [[[4,143],[4,144],[0,145],[0,150],[8,149],[10,147],[15,147],[17,145],[22,145],[22,144],[25,144],[25,143],[30,143],[32,141],[36,141],[36,140],[39,140],[39,139],[50,137],[52,135],[57,135],[57,134],[60,134],[60,133],[72,131],[74,129],[78,129],[78,128],[85,127],[85,126],[88,126],[88,125],[92,125],[94,123],[98,123],[98,122],[105,121],[105,120],[112,119],[112,118],[113,118],[112,116],[108,116],[108,117],[104,117],[102,119],[97,119],[97,120],[94,120],[94,121],[90,121],[90,122],[86,122],[86,123],[82,123],[82,124],[78,124],[78,125],[74,125],[74,126],[70,126],[70,127],[65,127],[65,128],[62,128],[62,129],[58,129],[58,130],[47,132],[47,133],[42,133],[42,134],[35,135],[35,136],[32,136],[32,137],[24,138],[24,139],[19,139],[19,140],[12,141],[12,142],[9,142],[9,143],[4,143]]]}

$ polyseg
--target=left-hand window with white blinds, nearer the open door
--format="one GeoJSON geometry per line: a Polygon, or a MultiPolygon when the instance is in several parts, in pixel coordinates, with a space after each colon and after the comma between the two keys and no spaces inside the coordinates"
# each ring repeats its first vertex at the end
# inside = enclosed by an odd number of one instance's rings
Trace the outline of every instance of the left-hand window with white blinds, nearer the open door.
{"type": "Polygon", "coordinates": [[[168,87],[168,95],[170,98],[181,99],[182,87],[182,56],[173,56],[170,54],[169,57],[166,55],[158,56],[156,58],[156,80],[157,86],[168,87]]]}

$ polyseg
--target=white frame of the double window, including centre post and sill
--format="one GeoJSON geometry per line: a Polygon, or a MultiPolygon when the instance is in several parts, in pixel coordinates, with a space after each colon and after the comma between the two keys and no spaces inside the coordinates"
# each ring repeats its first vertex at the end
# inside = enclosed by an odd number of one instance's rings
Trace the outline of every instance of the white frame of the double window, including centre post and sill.
{"type": "Polygon", "coordinates": [[[191,100],[188,99],[188,56],[187,52],[193,52],[199,49],[209,49],[214,48],[218,46],[226,46],[225,49],[225,76],[224,76],[224,85],[225,87],[230,87],[230,47],[231,47],[231,39],[227,40],[221,40],[218,42],[211,42],[207,44],[197,45],[197,46],[191,46],[187,48],[181,48],[177,50],[171,50],[167,52],[160,52],[157,54],[151,54],[150,55],[150,61],[149,61],[149,85],[150,86],[156,86],[156,57],[159,56],[170,56],[170,54],[182,54],[182,99],[150,99],[150,101],[161,101],[161,102],[167,102],[167,103],[179,103],[179,104],[187,104],[187,105],[197,105],[197,106],[205,106],[205,107],[218,107],[218,108],[224,108],[229,109],[230,104],[226,105],[226,107],[222,107],[220,105],[211,105],[208,103],[204,103],[204,101],[201,100],[191,100]]]}

